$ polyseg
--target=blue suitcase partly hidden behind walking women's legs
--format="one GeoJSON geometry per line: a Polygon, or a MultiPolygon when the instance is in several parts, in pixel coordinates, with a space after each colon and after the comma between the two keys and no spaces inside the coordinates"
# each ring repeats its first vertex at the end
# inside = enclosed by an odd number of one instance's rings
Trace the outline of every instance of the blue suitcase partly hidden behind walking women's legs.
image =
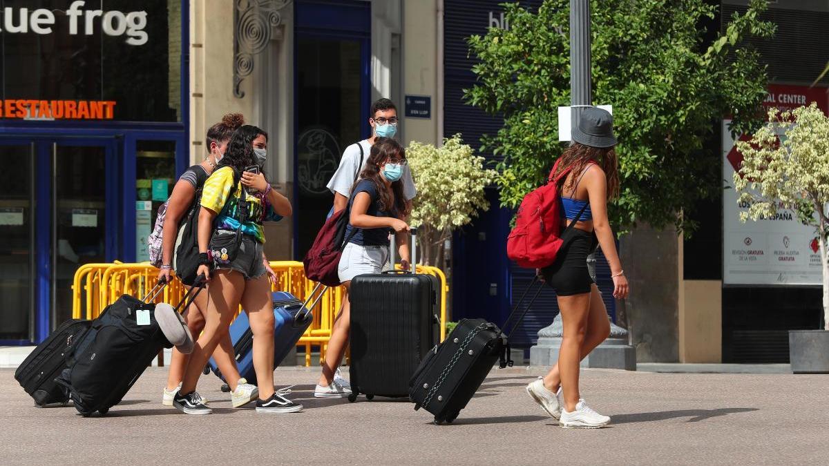
{"type": "MultiPolygon", "coordinates": [[[[288,356],[288,352],[297,345],[299,338],[303,336],[305,330],[311,325],[313,321],[313,314],[309,309],[313,309],[317,305],[322,295],[325,294],[327,287],[322,288],[322,292],[310,307],[306,305],[317,294],[321,285],[318,284],[314,288],[311,295],[303,303],[293,296],[293,294],[284,291],[275,291],[272,294],[274,302],[274,368],[288,356]]],[[[240,313],[237,318],[230,324],[230,341],[233,342],[233,353],[235,356],[236,366],[239,368],[240,376],[247,379],[250,383],[256,383],[256,372],[254,371],[254,334],[250,331],[250,323],[248,323],[248,314],[240,313]]],[[[216,361],[211,357],[207,362],[205,373],[213,371],[222,381],[225,377],[221,375],[221,371],[216,366],[216,361]]],[[[226,390],[225,387],[222,387],[226,390]]]]}

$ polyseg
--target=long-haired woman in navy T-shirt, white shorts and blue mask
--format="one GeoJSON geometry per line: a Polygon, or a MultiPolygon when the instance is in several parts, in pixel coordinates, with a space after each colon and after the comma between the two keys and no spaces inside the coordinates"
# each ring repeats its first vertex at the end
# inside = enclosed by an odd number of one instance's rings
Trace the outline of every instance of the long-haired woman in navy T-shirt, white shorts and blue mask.
{"type": "MultiPolygon", "coordinates": [[[[346,289],[351,279],[361,274],[379,274],[389,261],[389,233],[409,231],[402,219],[409,215],[408,203],[403,196],[400,181],[406,164],[404,149],[394,139],[377,138],[371,146],[371,154],[360,179],[351,189],[348,201],[348,228],[346,247],[338,272],[340,282],[346,289]]],[[[410,253],[406,235],[396,235],[404,269],[409,268],[410,253]]],[[[337,367],[346,351],[351,321],[351,306],[348,295],[343,299],[342,312],[328,340],[322,374],[314,390],[318,398],[339,398],[351,394],[351,388],[337,377],[337,367]]]]}

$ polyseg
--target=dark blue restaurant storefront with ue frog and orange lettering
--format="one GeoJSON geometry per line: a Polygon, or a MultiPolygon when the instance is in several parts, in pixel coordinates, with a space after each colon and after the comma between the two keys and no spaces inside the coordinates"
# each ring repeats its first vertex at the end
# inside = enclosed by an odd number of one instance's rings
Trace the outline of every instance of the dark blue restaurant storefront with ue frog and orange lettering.
{"type": "Polygon", "coordinates": [[[70,318],[80,265],[147,260],[155,210],[189,161],[187,0],[101,5],[5,9],[0,345],[70,318]]]}

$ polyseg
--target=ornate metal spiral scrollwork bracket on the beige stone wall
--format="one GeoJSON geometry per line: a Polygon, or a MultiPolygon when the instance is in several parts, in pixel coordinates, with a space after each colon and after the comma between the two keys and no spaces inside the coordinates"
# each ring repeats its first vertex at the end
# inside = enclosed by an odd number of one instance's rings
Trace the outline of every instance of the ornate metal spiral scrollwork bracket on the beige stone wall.
{"type": "Polygon", "coordinates": [[[242,80],[254,71],[255,56],[268,47],[274,27],[282,24],[291,0],[235,0],[233,10],[233,95],[245,97],[242,80]]]}

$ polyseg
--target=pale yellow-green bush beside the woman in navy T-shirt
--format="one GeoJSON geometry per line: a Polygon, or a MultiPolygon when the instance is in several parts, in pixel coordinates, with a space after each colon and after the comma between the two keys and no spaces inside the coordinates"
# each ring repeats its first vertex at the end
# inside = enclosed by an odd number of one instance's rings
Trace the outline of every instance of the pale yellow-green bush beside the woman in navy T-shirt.
{"type": "Polygon", "coordinates": [[[483,167],[484,158],[474,155],[460,134],[445,138],[440,148],[413,141],[406,158],[418,186],[411,225],[419,226],[421,263],[440,266],[452,231],[489,208],[483,188],[495,180],[495,172],[483,167]]]}

